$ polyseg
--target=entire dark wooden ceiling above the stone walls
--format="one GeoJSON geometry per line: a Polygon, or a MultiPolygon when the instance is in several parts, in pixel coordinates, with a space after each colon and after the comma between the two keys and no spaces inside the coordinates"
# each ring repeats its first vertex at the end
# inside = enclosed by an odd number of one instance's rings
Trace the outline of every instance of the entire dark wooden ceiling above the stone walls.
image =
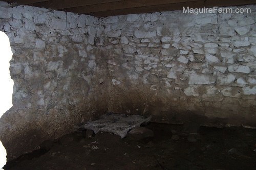
{"type": "Polygon", "coordinates": [[[8,3],[44,7],[97,17],[256,4],[256,0],[7,0],[8,3]]]}

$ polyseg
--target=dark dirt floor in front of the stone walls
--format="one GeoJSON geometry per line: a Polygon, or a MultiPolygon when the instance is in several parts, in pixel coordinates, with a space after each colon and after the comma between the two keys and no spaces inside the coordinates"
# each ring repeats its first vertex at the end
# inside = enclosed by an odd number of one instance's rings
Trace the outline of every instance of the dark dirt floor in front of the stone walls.
{"type": "Polygon", "coordinates": [[[256,130],[150,123],[154,137],[78,131],[4,169],[256,169],[256,130]]]}

